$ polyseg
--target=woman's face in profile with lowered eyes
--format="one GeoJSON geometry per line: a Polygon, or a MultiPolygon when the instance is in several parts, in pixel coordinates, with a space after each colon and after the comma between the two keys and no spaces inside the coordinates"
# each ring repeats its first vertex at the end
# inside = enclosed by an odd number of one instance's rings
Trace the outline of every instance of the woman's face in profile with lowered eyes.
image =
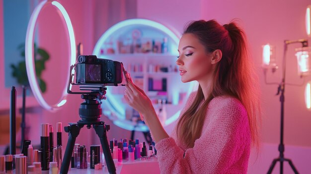
{"type": "Polygon", "coordinates": [[[206,81],[211,77],[212,54],[206,52],[199,39],[191,33],[183,34],[178,45],[181,81],[186,83],[193,80],[206,81]]]}

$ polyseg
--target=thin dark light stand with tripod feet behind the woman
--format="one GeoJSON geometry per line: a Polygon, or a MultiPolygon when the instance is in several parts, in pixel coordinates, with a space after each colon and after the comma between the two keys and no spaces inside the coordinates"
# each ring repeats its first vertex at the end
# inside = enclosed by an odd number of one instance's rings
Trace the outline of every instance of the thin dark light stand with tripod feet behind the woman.
{"type": "Polygon", "coordinates": [[[291,159],[287,159],[284,157],[284,143],[283,143],[283,136],[284,136],[284,92],[285,92],[285,72],[286,72],[286,52],[287,52],[287,46],[292,43],[302,43],[303,47],[308,47],[308,41],[305,39],[300,40],[294,40],[294,41],[284,41],[284,54],[283,54],[283,76],[282,76],[282,82],[278,86],[278,93],[277,95],[280,95],[280,102],[281,102],[281,131],[280,131],[280,144],[279,144],[279,152],[280,156],[278,158],[275,158],[269,168],[269,171],[267,174],[271,174],[273,171],[273,168],[277,162],[280,162],[280,174],[283,174],[283,162],[287,161],[289,165],[291,166],[292,170],[295,174],[299,174],[297,169],[295,168],[293,162],[291,159]]]}

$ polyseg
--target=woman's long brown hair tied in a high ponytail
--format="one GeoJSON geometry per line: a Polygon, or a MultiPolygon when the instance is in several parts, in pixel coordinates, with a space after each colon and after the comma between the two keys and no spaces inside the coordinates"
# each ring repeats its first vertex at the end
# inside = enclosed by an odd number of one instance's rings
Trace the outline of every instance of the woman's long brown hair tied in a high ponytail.
{"type": "Polygon", "coordinates": [[[188,148],[201,136],[204,119],[210,101],[218,96],[231,96],[238,99],[245,107],[251,133],[252,145],[258,147],[260,121],[258,79],[252,61],[247,53],[246,38],[235,22],[220,25],[215,20],[199,20],[191,22],[185,33],[194,34],[207,53],[221,50],[223,57],[216,65],[211,93],[204,101],[201,86],[197,95],[177,123],[177,137],[188,148]]]}

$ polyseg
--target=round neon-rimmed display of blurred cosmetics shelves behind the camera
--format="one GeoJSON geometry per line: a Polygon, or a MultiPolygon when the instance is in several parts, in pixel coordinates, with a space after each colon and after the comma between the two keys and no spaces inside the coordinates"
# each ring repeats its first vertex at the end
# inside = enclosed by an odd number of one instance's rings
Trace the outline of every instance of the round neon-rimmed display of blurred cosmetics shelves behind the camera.
{"type": "MultiPolygon", "coordinates": [[[[134,83],[151,98],[155,108],[157,99],[165,99],[167,119],[163,126],[178,118],[194,86],[194,83],[182,83],[180,80],[175,63],[179,38],[172,30],[155,21],[129,19],[109,28],[93,51],[97,58],[122,62],[134,83]]],[[[147,131],[144,123],[130,121],[135,113],[130,112],[131,108],[123,99],[124,90],[122,86],[107,87],[107,101],[103,102],[102,107],[104,114],[122,128],[147,131]]]]}

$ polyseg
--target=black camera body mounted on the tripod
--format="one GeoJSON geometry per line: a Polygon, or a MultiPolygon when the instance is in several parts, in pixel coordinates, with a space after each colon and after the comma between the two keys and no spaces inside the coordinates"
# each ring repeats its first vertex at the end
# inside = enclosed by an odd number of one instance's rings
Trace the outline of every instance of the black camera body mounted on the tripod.
{"type": "Polygon", "coordinates": [[[78,57],[77,84],[114,84],[122,83],[122,63],[110,59],[97,58],[95,55],[78,57]]]}

